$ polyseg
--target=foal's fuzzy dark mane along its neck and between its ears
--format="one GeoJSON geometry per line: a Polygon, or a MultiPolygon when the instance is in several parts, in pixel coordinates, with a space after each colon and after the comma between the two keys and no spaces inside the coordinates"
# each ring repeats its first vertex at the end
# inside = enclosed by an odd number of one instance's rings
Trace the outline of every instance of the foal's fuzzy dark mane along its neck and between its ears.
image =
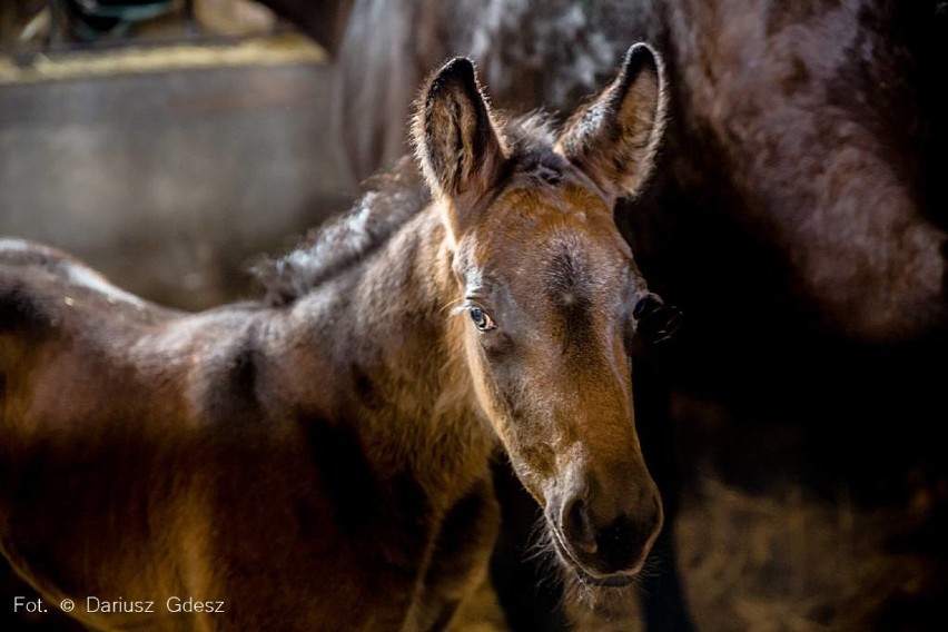
{"type": "MultiPolygon", "coordinates": [[[[503,124],[503,134],[513,169],[555,180],[563,158],[553,151],[555,132],[547,115],[535,111],[511,119],[503,124]]],[[[366,180],[364,188],[349,210],[310,230],[296,249],[253,268],[269,305],[289,305],[364,260],[432,199],[415,160],[408,156],[366,180]]]]}

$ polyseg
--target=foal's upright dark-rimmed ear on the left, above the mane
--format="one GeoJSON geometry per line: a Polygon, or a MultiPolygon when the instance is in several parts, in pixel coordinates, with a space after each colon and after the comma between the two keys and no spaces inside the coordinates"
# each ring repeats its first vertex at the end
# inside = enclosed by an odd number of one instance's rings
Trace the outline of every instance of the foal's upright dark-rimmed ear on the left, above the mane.
{"type": "Polygon", "coordinates": [[[455,203],[467,198],[467,205],[453,206],[470,206],[494,184],[505,150],[470,59],[452,59],[427,82],[414,141],[432,192],[455,203]]]}

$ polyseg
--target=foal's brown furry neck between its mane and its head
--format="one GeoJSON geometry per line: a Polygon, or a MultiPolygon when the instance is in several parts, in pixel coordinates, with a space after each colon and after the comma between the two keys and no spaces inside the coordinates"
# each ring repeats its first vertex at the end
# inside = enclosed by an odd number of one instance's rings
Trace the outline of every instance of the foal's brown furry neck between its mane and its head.
{"type": "Polygon", "coordinates": [[[462,483],[486,468],[494,436],[465,362],[465,323],[452,316],[460,290],[436,204],[349,270],[327,334],[348,338],[333,345],[346,349],[337,369],[357,375],[344,414],[379,462],[462,483]]]}

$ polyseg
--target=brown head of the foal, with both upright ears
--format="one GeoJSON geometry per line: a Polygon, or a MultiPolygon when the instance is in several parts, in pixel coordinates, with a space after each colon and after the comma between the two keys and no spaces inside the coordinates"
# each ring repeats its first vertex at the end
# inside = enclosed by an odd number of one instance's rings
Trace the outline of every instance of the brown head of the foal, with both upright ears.
{"type": "Polygon", "coordinates": [[[638,573],[662,526],[630,375],[636,317],[655,299],[613,207],[645,179],[663,109],[661,65],[638,45],[559,135],[530,119],[501,131],[467,59],[434,76],[415,121],[480,406],[561,559],[603,584],[638,573]]]}

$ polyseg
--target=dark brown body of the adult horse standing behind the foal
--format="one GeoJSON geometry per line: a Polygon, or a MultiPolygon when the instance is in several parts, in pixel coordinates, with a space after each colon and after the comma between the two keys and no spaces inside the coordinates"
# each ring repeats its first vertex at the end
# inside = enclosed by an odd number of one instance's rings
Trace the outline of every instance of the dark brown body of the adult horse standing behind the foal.
{"type": "Polygon", "coordinates": [[[628,233],[672,264],[660,266],[669,285],[712,316],[704,306],[719,284],[709,282],[728,278],[757,309],[786,312],[793,297],[808,324],[872,343],[942,329],[936,60],[948,11],[935,0],[784,4],[358,1],[339,59],[354,170],[365,176],[401,155],[397,121],[413,99],[405,79],[428,59],[470,51],[500,105],[570,111],[624,42],[652,41],[674,87],[677,150],[656,187],[662,217],[630,215],[650,230],[628,233]],[[708,229],[767,265],[747,269],[708,229]]]}

